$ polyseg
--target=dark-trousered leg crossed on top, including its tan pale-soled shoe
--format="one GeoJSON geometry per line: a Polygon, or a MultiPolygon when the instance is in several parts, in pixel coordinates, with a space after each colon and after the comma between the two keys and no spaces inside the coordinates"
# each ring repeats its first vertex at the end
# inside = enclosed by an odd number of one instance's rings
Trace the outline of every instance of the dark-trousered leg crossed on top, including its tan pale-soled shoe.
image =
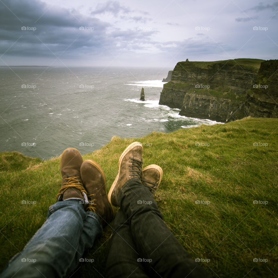
{"type": "Polygon", "coordinates": [[[141,167],[142,146],[134,142],[120,157],[119,172],[108,197],[129,219],[145,268],[156,270],[161,277],[208,277],[162,220],[149,186],[141,182],[141,167]]]}

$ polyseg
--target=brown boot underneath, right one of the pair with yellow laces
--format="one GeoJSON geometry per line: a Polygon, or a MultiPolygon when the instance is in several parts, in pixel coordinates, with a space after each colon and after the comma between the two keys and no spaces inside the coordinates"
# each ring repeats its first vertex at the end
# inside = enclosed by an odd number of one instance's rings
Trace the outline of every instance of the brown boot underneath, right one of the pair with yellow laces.
{"type": "Polygon", "coordinates": [[[96,213],[104,228],[115,217],[115,211],[107,199],[103,169],[95,161],[88,159],[82,163],[80,171],[89,201],[86,211],[96,213]]]}

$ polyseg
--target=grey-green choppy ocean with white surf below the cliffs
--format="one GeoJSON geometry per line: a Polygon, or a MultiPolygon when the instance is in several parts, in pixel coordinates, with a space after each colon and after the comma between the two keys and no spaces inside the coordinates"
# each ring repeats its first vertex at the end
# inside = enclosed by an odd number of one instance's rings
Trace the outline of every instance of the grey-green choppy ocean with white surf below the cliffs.
{"type": "Polygon", "coordinates": [[[49,159],[69,147],[92,152],[115,135],[215,124],[158,104],[167,74],[161,68],[0,67],[0,151],[49,159]],[[139,100],[142,87],[146,101],[139,100]]]}

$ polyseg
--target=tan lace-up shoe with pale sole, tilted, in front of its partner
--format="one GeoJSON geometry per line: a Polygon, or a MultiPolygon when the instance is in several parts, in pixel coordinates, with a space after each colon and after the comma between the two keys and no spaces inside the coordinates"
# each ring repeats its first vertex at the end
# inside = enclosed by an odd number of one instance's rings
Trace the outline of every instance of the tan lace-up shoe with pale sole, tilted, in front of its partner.
{"type": "Polygon", "coordinates": [[[142,174],[143,147],[139,142],[133,142],[122,153],[119,159],[119,171],[108,193],[108,200],[113,206],[119,206],[118,190],[130,179],[140,180],[142,174]]]}

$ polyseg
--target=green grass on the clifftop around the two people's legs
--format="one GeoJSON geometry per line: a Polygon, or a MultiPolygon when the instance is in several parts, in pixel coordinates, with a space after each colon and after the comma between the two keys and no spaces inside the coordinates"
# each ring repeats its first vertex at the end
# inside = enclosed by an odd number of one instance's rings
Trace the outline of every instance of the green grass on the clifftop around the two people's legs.
{"type": "MultiPolygon", "coordinates": [[[[144,147],[143,166],[155,163],[163,169],[155,200],[165,223],[193,259],[209,259],[201,264],[213,277],[275,277],[277,127],[278,119],[248,117],[224,125],[153,132],[142,138],[113,137],[83,159],[96,160],[103,167],[109,190],[122,151],[133,141],[152,144],[144,147]],[[254,204],[255,200],[268,203],[254,204]],[[268,262],[255,262],[255,258],[268,262]]],[[[59,157],[39,161],[6,152],[1,153],[0,163],[3,269],[45,221],[61,175],[59,157]],[[21,200],[36,204],[21,204],[21,200]]],[[[104,276],[110,234],[108,226],[85,254],[95,259],[94,265],[81,265],[72,277],[104,276]]]]}

